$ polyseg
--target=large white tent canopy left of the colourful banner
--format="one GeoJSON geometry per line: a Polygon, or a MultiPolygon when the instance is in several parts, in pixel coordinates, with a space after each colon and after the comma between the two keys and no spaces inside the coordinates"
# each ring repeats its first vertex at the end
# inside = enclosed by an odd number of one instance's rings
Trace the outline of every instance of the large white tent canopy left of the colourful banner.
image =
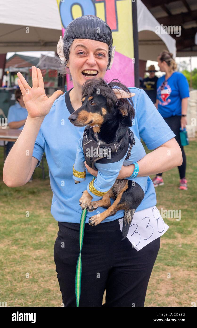
{"type": "Polygon", "coordinates": [[[62,34],[56,0],[0,0],[0,8],[0,53],[56,51],[62,34]]]}

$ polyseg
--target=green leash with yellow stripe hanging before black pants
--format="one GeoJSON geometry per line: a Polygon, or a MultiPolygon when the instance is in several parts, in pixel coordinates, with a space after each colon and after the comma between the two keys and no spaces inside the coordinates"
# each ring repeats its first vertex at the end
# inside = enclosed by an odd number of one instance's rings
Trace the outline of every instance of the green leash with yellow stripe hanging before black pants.
{"type": "MultiPolygon", "coordinates": [[[[95,176],[93,176],[93,179],[95,179],[95,176]]],[[[78,260],[77,260],[77,267],[76,267],[76,274],[75,274],[75,296],[76,296],[77,307],[79,307],[79,300],[80,300],[80,296],[81,296],[81,268],[82,268],[81,251],[82,251],[83,239],[84,239],[84,228],[85,228],[85,222],[86,222],[86,214],[87,214],[87,209],[85,208],[82,211],[81,220],[80,220],[80,228],[79,228],[80,252],[79,252],[79,257],[78,257],[78,260]]]]}

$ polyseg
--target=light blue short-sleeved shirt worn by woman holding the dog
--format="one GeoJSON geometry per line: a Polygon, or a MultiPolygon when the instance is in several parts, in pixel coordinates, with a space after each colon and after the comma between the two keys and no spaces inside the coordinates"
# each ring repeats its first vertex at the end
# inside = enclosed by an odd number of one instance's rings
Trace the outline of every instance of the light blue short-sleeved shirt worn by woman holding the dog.
{"type": "MultiPolygon", "coordinates": [[[[130,127],[135,136],[139,140],[142,138],[148,149],[155,149],[175,137],[146,92],[138,88],[129,88],[129,90],[135,93],[132,99],[136,113],[133,126],[130,127]]],[[[38,166],[43,153],[46,153],[53,192],[51,214],[55,220],[80,223],[82,211],[79,199],[93,176],[86,169],[86,181],[75,184],[72,177],[78,141],[85,127],[75,127],[68,120],[69,115],[74,112],[69,99],[69,91],[54,101],[49,114],[45,116],[35,141],[32,156],[38,159],[38,166]]],[[[111,204],[113,201],[111,198],[111,204]]],[[[144,199],[136,211],[155,206],[156,203],[154,185],[148,176],[144,199]]],[[[87,212],[86,223],[90,216],[105,210],[105,208],[98,207],[95,211],[87,212]]],[[[123,216],[124,211],[120,210],[115,215],[107,217],[102,223],[123,216]]]]}

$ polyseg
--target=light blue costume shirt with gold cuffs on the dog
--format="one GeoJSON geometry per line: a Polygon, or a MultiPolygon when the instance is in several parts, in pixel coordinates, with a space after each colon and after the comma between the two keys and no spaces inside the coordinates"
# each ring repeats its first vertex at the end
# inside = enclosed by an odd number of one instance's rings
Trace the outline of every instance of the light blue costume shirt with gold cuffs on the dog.
{"type": "MultiPolygon", "coordinates": [[[[98,169],[98,175],[95,178],[93,185],[96,190],[101,192],[108,191],[113,186],[115,180],[117,179],[122,165],[127,166],[133,164],[139,161],[140,159],[142,159],[146,155],[145,149],[142,143],[140,142],[140,140],[137,138],[136,135],[134,135],[134,138],[135,138],[135,145],[133,145],[131,149],[131,155],[127,160],[124,160],[125,157],[127,156],[126,154],[118,162],[110,163],[110,156],[107,157],[109,159],[109,163],[102,164],[102,163],[95,162],[94,166],[98,169]]],[[[86,168],[84,164],[85,156],[83,152],[82,142],[83,142],[83,136],[78,141],[77,154],[74,163],[74,169],[79,172],[84,172],[86,168]]],[[[76,181],[86,180],[86,178],[78,178],[74,174],[72,175],[72,177],[76,181]]],[[[127,179],[137,182],[145,193],[148,176],[142,176],[142,177],[136,176],[135,178],[127,178],[127,179]]],[[[89,190],[89,183],[87,186],[87,191],[93,197],[92,201],[97,201],[102,198],[102,196],[97,196],[89,190]]]]}

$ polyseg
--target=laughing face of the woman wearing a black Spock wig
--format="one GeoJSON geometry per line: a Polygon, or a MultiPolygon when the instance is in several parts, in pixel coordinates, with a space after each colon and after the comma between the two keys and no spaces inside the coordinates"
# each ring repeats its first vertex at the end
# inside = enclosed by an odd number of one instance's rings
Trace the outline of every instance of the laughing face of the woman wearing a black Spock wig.
{"type": "Polygon", "coordinates": [[[80,87],[94,76],[104,78],[108,67],[107,43],[75,39],[71,45],[67,66],[73,84],[76,83],[80,87]]]}

